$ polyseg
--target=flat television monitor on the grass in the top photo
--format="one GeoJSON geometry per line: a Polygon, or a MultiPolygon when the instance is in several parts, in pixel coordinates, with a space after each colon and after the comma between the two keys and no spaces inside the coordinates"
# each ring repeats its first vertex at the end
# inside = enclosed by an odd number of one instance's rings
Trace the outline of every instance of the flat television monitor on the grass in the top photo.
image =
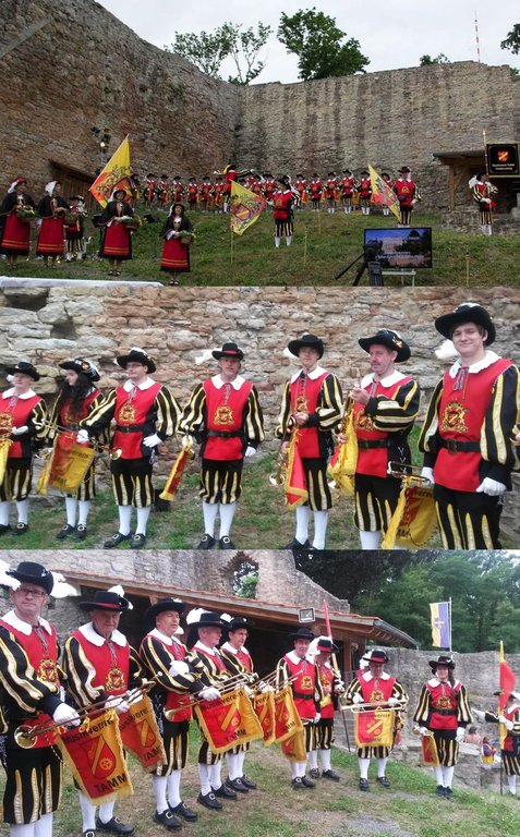
{"type": "Polygon", "coordinates": [[[396,270],[432,267],[432,228],[398,227],[365,229],[364,252],[367,262],[396,270]]]}

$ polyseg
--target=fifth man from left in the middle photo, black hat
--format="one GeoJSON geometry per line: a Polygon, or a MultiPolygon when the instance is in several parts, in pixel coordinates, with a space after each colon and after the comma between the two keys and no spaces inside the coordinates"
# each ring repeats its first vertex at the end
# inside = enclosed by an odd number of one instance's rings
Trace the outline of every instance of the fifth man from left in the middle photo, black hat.
{"type": "Polygon", "coordinates": [[[328,511],[332,496],[327,481],[327,462],[332,451],[331,432],[341,418],[341,386],[336,375],[327,372],[318,361],[325,351],[324,342],[315,335],[303,335],[288,345],[297,356],[301,369],[286,384],[280,424],[276,435],[288,454],[291,437],[295,437],[295,453],[302,461],[309,500],[297,506],[297,531],[289,549],[310,546],[309,510],[314,512],[314,549],[325,549],[328,511]]]}

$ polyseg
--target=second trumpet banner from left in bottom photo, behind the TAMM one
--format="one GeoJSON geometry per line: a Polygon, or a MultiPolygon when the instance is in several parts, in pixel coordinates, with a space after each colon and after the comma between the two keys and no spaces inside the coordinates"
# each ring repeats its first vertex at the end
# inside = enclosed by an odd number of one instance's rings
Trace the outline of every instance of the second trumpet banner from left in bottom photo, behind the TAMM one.
{"type": "Polygon", "coordinates": [[[158,764],[166,763],[162,739],[147,694],[119,715],[119,731],[124,747],[135,753],[145,771],[152,773],[158,764]]]}

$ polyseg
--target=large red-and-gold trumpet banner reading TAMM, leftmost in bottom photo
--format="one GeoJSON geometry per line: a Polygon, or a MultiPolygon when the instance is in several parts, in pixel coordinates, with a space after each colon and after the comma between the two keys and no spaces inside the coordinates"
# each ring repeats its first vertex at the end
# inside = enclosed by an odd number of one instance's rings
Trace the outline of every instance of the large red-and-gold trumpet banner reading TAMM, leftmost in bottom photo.
{"type": "Polygon", "coordinates": [[[56,743],[92,802],[110,802],[134,792],[113,709],[88,718],[76,729],[58,733],[56,743]]]}

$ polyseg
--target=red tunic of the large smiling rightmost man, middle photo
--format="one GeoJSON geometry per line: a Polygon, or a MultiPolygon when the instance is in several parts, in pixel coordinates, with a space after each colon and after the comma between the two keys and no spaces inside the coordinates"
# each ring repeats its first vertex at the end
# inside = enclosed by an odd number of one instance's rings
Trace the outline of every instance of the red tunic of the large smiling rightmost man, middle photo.
{"type": "MultiPolygon", "coordinates": [[[[480,441],[495,380],[511,365],[512,361],[500,357],[481,372],[460,371],[455,377],[445,373],[438,411],[438,429],[444,439],[480,441]],[[462,376],[465,380],[461,381],[462,376]]],[[[440,448],[434,468],[435,482],[456,492],[475,492],[481,483],[481,461],[480,450],[451,453],[440,448]]]]}

